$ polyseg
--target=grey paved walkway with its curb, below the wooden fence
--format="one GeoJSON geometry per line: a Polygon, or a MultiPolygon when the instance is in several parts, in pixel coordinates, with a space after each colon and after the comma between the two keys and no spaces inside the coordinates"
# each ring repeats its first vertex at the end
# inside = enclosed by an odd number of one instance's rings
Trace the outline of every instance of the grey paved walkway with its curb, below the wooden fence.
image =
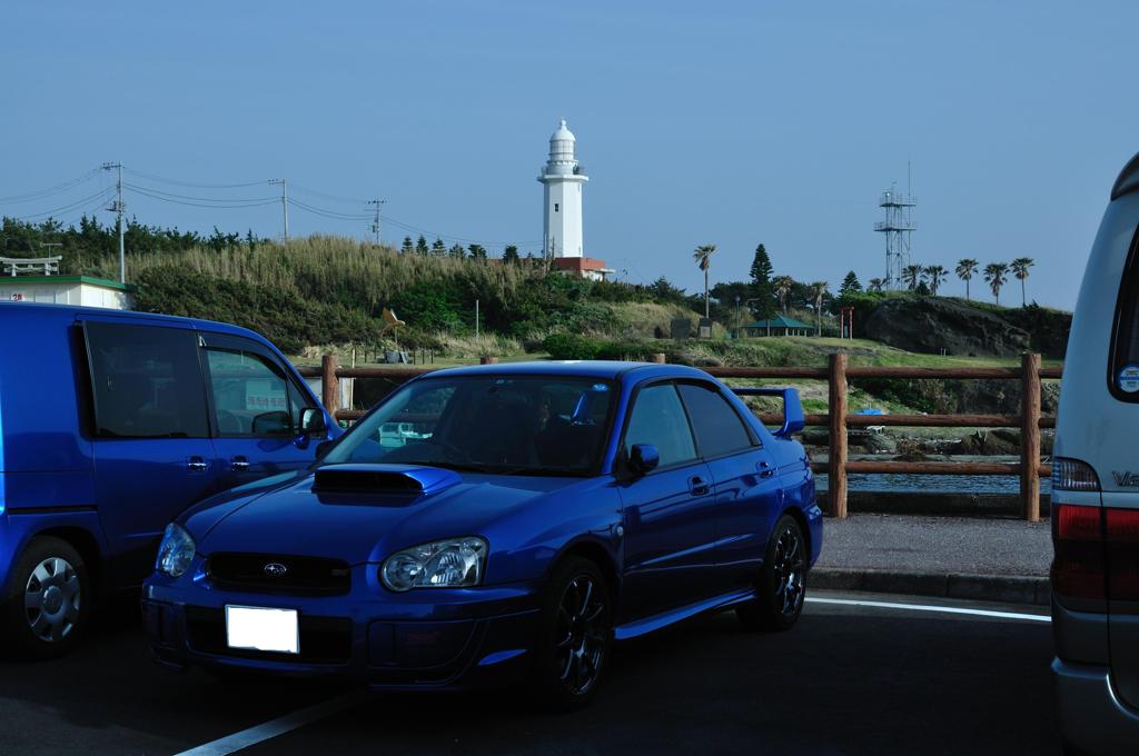
{"type": "Polygon", "coordinates": [[[851,515],[823,523],[816,587],[1048,603],[1049,524],[851,515]]]}

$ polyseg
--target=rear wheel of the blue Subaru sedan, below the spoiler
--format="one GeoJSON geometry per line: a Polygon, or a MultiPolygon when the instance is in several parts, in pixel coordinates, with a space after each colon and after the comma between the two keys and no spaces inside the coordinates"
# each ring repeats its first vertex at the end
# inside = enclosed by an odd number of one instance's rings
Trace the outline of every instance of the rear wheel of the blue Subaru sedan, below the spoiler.
{"type": "Polygon", "coordinates": [[[755,599],[736,609],[744,627],[759,632],[790,630],[803,613],[806,569],[803,528],[794,517],[784,515],[771,531],[755,599]]]}

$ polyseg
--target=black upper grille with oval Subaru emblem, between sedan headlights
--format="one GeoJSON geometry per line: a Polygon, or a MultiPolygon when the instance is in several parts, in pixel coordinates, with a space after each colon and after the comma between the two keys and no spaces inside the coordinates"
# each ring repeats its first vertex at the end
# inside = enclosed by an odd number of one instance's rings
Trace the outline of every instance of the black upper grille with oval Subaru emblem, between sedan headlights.
{"type": "Polygon", "coordinates": [[[346,561],[272,553],[213,553],[206,575],[219,586],[262,593],[343,595],[352,589],[346,561]]]}

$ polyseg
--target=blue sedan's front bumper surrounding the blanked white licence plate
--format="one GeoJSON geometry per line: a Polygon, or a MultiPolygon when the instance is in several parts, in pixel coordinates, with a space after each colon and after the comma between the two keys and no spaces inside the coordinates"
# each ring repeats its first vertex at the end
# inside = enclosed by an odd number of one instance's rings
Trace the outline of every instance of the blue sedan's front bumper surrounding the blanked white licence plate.
{"type": "Polygon", "coordinates": [[[530,671],[538,591],[518,584],[298,597],[156,576],[144,589],[142,614],[155,660],[172,668],[338,677],[379,689],[493,688],[530,671]],[[301,652],[228,648],[227,605],[296,609],[301,652]]]}

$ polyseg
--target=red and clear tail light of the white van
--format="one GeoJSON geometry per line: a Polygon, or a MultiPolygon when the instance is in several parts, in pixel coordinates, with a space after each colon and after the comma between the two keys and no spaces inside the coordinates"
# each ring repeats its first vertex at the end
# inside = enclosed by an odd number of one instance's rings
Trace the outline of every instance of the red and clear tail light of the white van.
{"type": "MultiPolygon", "coordinates": [[[[1058,458],[1052,491],[1098,493],[1099,477],[1087,462],[1058,458]]],[[[1051,519],[1057,597],[1139,602],[1139,509],[1054,503],[1051,519]]]]}

